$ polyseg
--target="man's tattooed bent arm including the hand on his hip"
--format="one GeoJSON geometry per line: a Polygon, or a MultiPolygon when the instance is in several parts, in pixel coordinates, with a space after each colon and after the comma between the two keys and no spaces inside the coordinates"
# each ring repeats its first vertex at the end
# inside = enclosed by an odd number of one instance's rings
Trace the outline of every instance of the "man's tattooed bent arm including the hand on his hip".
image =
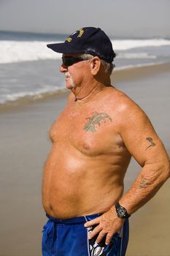
{"type": "MultiPolygon", "coordinates": [[[[123,111],[120,135],[125,147],[142,166],[134,184],[119,200],[120,206],[123,206],[128,214],[133,214],[147,203],[169,178],[169,157],[141,108],[132,102],[130,107],[124,108],[123,111]]],[[[125,219],[117,217],[115,206],[112,206],[101,217],[87,222],[85,227],[97,225],[93,233],[90,233],[90,238],[98,234],[96,242],[100,242],[106,236],[106,244],[109,244],[113,234],[120,230],[124,221],[125,219]]]]}

